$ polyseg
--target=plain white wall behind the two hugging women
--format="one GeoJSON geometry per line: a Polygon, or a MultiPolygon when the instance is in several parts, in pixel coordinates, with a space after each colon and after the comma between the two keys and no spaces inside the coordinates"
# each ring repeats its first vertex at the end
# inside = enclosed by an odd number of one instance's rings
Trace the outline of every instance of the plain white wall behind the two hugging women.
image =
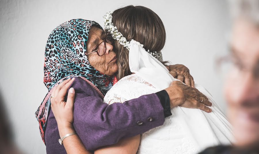
{"type": "Polygon", "coordinates": [[[76,18],[103,25],[104,13],[130,4],[149,7],[161,17],[167,32],[164,60],[186,65],[195,83],[207,88],[225,110],[222,82],[214,71],[215,57],[226,52],[225,1],[1,0],[0,90],[15,141],[23,151],[45,153],[34,113],[47,92],[43,62],[49,33],[60,23],[76,18]]]}

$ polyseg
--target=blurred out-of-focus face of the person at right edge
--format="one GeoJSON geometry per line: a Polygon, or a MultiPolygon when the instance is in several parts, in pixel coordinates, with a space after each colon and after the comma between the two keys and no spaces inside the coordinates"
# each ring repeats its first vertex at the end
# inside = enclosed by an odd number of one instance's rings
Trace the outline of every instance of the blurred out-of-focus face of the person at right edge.
{"type": "Polygon", "coordinates": [[[225,84],[237,145],[259,139],[259,28],[239,19],[231,42],[233,68],[225,84]]]}

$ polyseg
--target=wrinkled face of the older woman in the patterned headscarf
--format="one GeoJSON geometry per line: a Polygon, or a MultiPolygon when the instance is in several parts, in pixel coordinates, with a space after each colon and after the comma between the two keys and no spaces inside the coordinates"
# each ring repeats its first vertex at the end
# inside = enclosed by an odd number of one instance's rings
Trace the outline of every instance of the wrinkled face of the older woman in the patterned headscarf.
{"type": "MultiPolygon", "coordinates": [[[[105,33],[102,29],[92,26],[89,30],[87,40],[87,54],[96,50],[98,45],[105,41],[105,33]]],[[[110,42],[106,42],[106,52],[102,56],[98,56],[97,52],[87,55],[89,63],[98,71],[106,75],[113,75],[117,72],[117,58],[110,42]]]]}

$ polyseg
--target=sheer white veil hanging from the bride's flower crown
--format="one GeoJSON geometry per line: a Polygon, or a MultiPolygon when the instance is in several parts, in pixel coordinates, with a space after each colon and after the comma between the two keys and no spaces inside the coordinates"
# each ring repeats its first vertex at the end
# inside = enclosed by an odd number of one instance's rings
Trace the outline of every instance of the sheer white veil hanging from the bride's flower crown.
{"type": "MultiPolygon", "coordinates": [[[[167,68],[156,58],[151,56],[139,42],[132,40],[129,48],[129,68],[144,80],[152,84],[158,91],[170,86],[173,78],[167,68]]],[[[212,102],[212,112],[206,113],[199,109],[175,107],[171,110],[172,116],[177,116],[181,121],[182,129],[186,131],[190,139],[195,143],[196,149],[202,150],[208,146],[224,144],[224,141],[233,141],[231,125],[220,110],[220,107],[213,100],[210,93],[195,84],[200,92],[207,96],[212,102]],[[214,119],[219,119],[218,122],[214,119]],[[200,122],[202,121],[202,122],[200,122]],[[207,123],[204,123],[207,121],[207,123]],[[225,129],[225,130],[224,130],[225,129]],[[223,131],[222,133],[219,133],[223,131]],[[226,132],[231,132],[229,135],[226,132]]],[[[229,142],[226,142],[226,144],[229,142]]]]}

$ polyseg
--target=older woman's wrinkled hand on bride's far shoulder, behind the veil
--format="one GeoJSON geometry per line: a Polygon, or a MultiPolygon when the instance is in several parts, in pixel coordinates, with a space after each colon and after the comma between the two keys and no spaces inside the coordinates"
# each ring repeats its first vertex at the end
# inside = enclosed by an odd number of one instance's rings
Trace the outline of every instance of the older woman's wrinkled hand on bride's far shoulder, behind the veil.
{"type": "Polygon", "coordinates": [[[182,65],[182,64],[175,64],[167,66],[169,73],[176,79],[184,82],[188,86],[192,86],[194,88],[194,80],[193,76],[190,74],[190,70],[182,65]]]}

